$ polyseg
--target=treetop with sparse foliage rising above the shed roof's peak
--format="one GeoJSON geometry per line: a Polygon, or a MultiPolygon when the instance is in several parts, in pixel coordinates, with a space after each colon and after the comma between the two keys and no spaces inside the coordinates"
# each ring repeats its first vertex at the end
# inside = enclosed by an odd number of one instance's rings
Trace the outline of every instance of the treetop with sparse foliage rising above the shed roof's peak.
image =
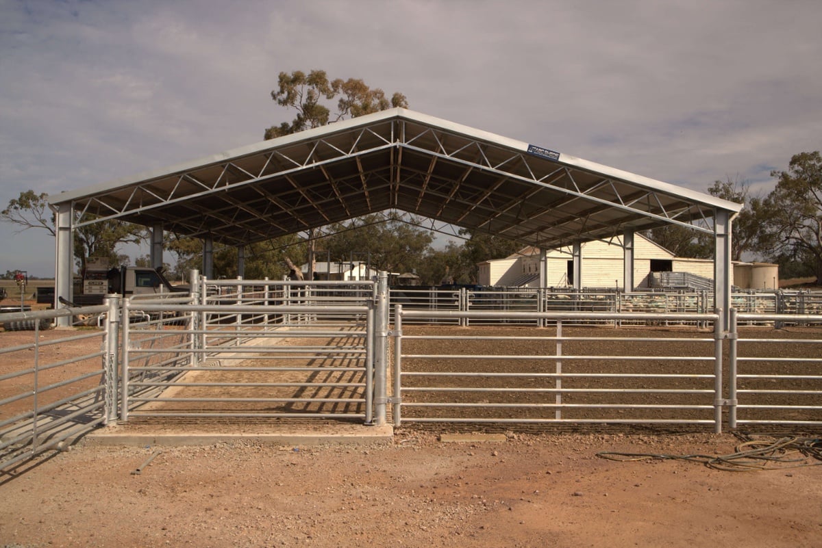
{"type": "Polygon", "coordinates": [[[271,126],[265,131],[266,139],[290,135],[314,127],[326,126],[333,121],[355,118],[372,112],[380,112],[390,107],[408,107],[408,99],[395,93],[391,98],[379,88],[370,88],[363,80],[329,80],[326,71],[280,72],[277,89],[271,98],[280,107],[293,108],[297,116],[291,122],[271,126]],[[336,112],[329,104],[337,98],[336,112]]]}

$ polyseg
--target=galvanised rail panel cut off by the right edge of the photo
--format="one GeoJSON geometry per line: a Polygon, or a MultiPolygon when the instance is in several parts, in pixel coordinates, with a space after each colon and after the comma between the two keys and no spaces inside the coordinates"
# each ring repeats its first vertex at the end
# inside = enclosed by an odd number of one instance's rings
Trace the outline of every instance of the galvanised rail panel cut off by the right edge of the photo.
{"type": "Polygon", "coordinates": [[[781,328],[732,333],[731,374],[736,382],[729,394],[734,403],[730,426],[822,426],[822,315],[732,310],[731,317],[732,326],[764,321],[781,328]]]}

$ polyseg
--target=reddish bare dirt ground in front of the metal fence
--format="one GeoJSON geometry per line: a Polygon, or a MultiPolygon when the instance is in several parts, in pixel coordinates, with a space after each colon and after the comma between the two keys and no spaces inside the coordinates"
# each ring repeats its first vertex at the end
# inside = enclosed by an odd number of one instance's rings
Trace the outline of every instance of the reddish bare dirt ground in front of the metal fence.
{"type": "Polygon", "coordinates": [[[442,436],[454,430],[400,427],[386,445],[81,441],[0,474],[0,546],[820,546],[820,466],[597,456],[731,454],[730,434],[442,436]]]}

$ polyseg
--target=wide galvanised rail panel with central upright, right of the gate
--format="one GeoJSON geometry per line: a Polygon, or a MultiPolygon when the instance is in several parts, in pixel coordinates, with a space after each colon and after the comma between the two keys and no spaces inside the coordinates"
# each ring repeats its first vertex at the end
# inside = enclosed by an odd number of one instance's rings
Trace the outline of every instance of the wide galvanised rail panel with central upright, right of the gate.
{"type": "Polygon", "coordinates": [[[723,333],[718,314],[441,312],[436,317],[467,317],[470,322],[542,318],[554,327],[404,332],[406,319],[431,314],[402,307],[395,311],[390,396],[395,425],[664,423],[713,425],[721,431],[723,333]],[[638,319],[711,329],[677,335],[642,331],[636,336],[631,330],[580,325],[638,319]]]}

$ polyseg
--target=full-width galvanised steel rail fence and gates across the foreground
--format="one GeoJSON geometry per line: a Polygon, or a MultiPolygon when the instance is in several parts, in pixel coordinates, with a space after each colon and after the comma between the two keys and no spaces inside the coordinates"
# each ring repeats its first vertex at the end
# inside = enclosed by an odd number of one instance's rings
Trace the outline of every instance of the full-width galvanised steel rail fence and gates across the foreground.
{"type": "Polygon", "coordinates": [[[0,373],[2,466],[115,421],[822,426],[820,315],[390,306],[385,276],[176,295],[17,314],[90,329],[0,349],[33,362],[0,373]]]}

